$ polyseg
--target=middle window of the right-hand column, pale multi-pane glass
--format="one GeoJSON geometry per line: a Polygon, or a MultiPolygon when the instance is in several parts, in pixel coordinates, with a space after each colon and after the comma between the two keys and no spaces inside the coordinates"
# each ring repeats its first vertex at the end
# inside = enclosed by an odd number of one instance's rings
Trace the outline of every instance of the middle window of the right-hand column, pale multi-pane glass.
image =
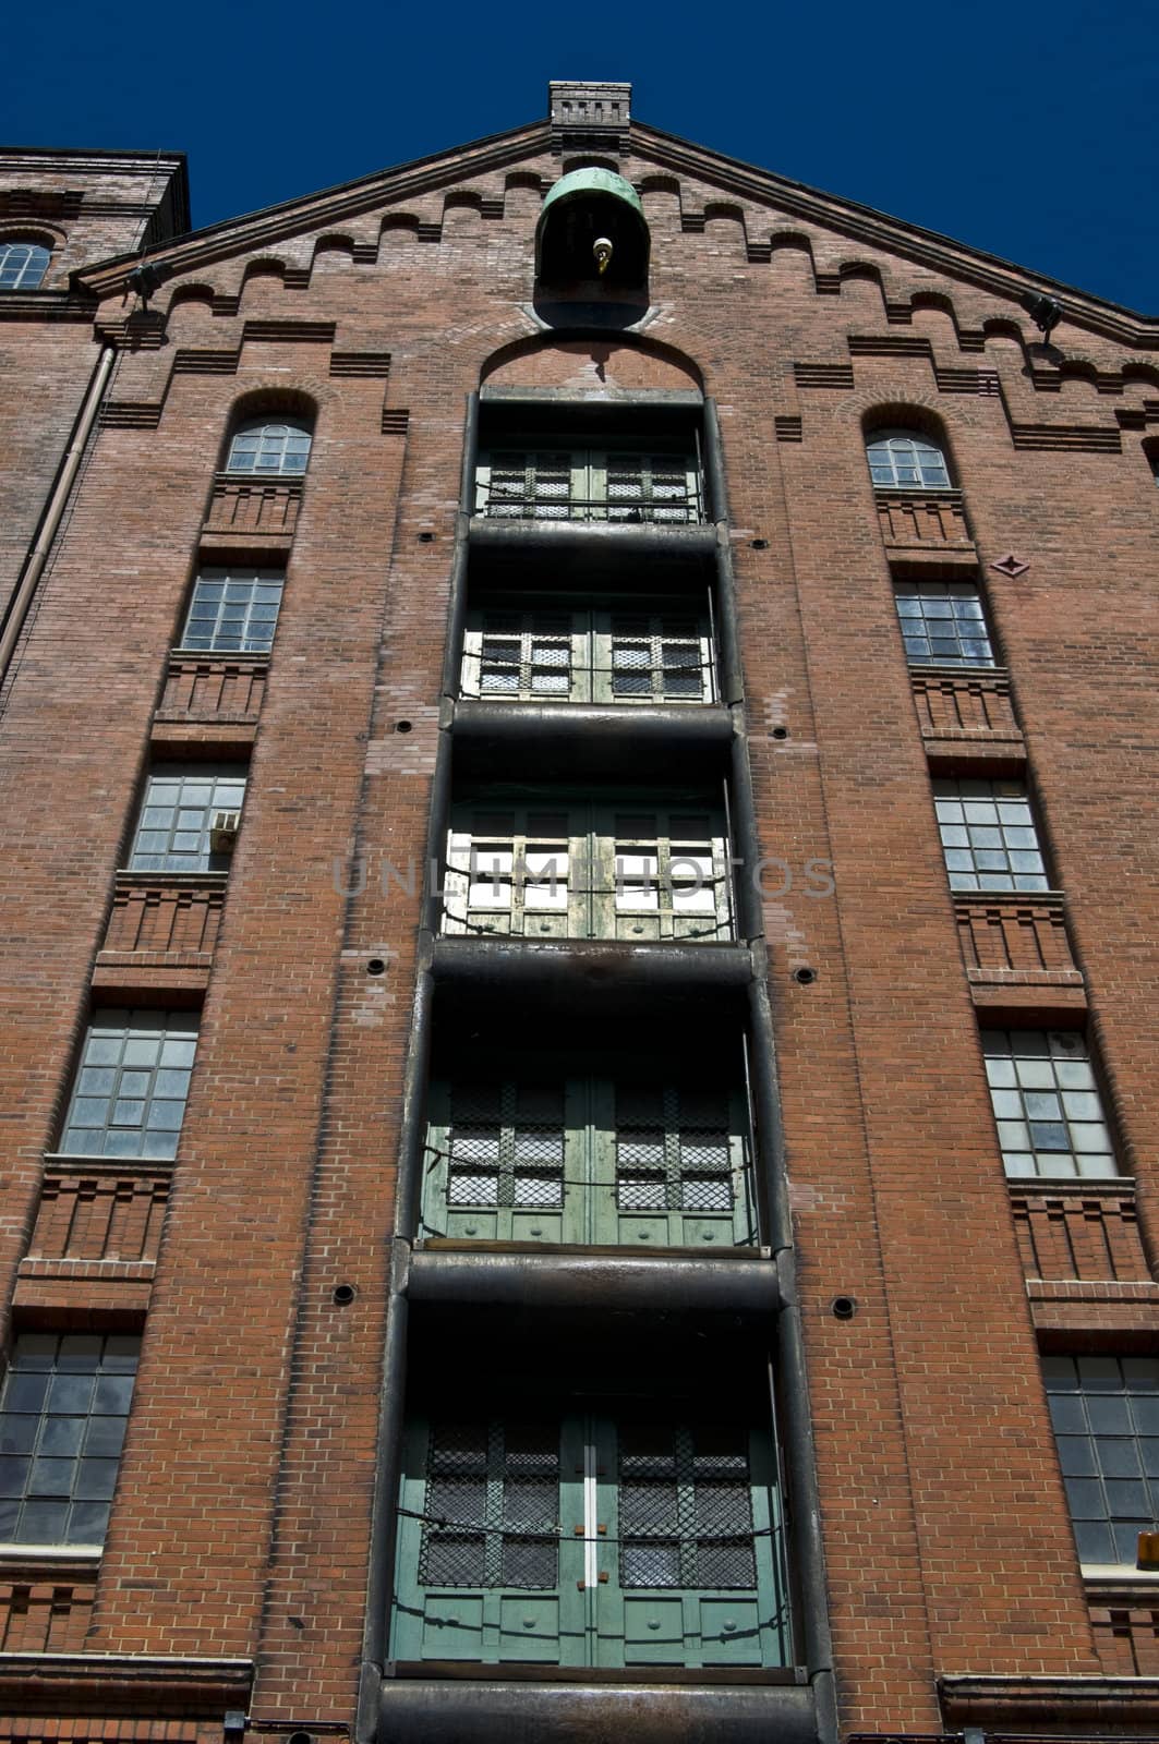
{"type": "Polygon", "coordinates": [[[1049,889],[1021,781],[934,780],[950,889],[1049,889]]]}

